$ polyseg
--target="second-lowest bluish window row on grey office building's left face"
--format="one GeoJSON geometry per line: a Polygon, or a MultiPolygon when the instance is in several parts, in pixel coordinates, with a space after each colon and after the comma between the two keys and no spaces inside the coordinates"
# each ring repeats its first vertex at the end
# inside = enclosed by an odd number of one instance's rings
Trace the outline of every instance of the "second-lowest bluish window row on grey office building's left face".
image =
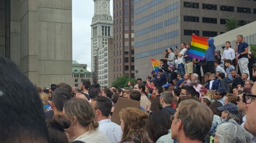
{"type": "MultiPolygon", "coordinates": [[[[179,17],[178,16],[174,17],[174,18],[171,18],[171,19],[168,19],[168,20],[165,20],[164,21],[164,26],[176,23],[178,21],[179,21],[179,17]]],[[[143,34],[146,34],[146,33],[149,33],[151,31],[155,31],[155,30],[157,30],[159,28],[162,28],[162,27],[163,27],[163,22],[157,23],[155,25],[152,25],[151,27],[147,27],[147,28],[144,28],[143,30],[140,30],[140,31],[136,32],[135,33],[135,37],[143,35],[143,34]]]]}

